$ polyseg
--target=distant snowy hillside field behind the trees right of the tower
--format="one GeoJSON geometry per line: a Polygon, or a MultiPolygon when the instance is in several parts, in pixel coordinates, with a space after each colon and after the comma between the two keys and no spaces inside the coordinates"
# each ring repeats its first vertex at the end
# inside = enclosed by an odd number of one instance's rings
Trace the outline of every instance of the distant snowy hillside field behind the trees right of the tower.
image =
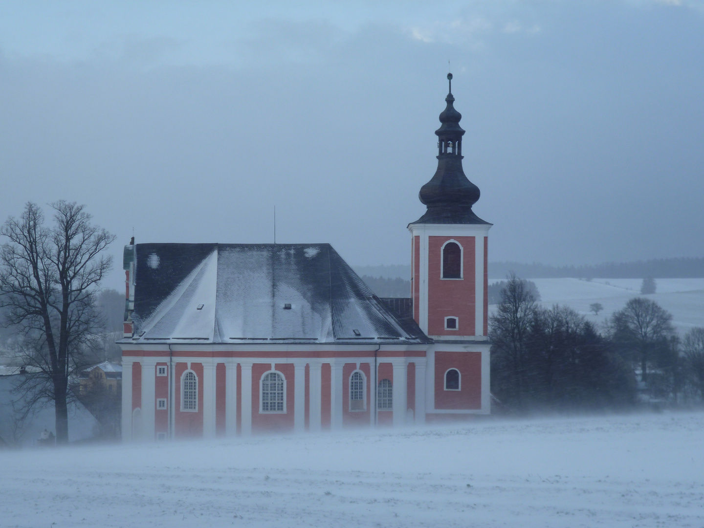
{"type": "MultiPolygon", "coordinates": [[[[540,291],[541,305],[546,308],[555,303],[570,306],[598,324],[623,308],[630,298],[639,296],[643,282],[642,279],[531,280],[540,291]],[[604,310],[594,315],[589,310],[592,303],[601,303],[604,310]]],[[[655,282],[656,293],[645,297],[672,313],[672,323],[679,332],[684,334],[692,327],[704,327],[704,279],[655,279],[655,282]]]]}

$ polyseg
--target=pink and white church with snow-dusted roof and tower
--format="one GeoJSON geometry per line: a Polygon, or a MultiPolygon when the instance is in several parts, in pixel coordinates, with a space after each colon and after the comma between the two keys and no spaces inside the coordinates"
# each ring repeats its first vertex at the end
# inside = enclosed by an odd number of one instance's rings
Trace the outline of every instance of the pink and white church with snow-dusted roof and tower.
{"type": "Polygon", "coordinates": [[[427,210],[408,224],[410,297],[377,297],[329,244],[125,246],[123,440],[489,414],[491,224],[472,211],[448,80],[427,210]]]}

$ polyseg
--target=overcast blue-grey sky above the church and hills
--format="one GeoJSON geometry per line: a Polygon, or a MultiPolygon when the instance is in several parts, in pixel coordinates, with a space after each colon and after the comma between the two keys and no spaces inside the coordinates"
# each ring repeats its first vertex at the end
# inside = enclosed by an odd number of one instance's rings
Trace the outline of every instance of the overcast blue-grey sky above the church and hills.
{"type": "Polygon", "coordinates": [[[704,4],[6,1],[0,217],[407,264],[448,60],[490,260],[704,256],[704,4]],[[240,5],[245,4],[245,5],[240,5]]]}

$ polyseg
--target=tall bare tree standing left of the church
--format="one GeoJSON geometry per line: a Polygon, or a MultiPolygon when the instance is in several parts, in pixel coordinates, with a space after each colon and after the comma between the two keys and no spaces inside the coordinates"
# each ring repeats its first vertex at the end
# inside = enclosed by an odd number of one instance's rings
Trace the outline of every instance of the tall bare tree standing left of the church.
{"type": "Polygon", "coordinates": [[[27,377],[34,402],[54,400],[56,440],[65,444],[69,377],[82,366],[77,354],[99,324],[94,295],[111,267],[102,251],[115,237],[92,225],[84,206],[62,200],[51,207],[53,227],[28,202],[20,218],[0,228],[8,239],[0,249],[0,306],[7,308],[6,322],[25,335],[25,364],[38,371],[27,377]]]}

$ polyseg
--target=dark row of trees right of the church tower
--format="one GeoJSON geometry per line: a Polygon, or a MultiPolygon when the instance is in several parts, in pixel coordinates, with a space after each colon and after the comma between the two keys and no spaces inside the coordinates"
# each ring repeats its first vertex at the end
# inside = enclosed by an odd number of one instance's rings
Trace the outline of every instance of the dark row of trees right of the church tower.
{"type": "Polygon", "coordinates": [[[572,308],[539,306],[512,275],[490,320],[492,393],[513,413],[703,403],[704,329],[680,340],[671,320],[636,297],[600,330],[572,308]]]}

